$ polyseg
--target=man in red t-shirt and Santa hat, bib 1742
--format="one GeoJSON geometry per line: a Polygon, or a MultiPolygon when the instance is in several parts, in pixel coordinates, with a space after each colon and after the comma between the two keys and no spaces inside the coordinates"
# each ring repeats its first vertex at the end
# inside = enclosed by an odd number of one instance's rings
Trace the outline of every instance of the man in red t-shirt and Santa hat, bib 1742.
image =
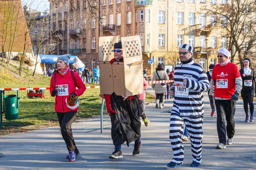
{"type": "Polygon", "coordinates": [[[242,89],[242,79],[237,66],[229,62],[229,50],[221,48],[217,57],[218,64],[212,71],[209,95],[214,96],[217,110],[217,131],[220,144],[216,148],[223,149],[226,148],[226,143],[233,143],[236,100],[238,100],[242,89]],[[227,128],[225,127],[225,117],[227,128]]]}

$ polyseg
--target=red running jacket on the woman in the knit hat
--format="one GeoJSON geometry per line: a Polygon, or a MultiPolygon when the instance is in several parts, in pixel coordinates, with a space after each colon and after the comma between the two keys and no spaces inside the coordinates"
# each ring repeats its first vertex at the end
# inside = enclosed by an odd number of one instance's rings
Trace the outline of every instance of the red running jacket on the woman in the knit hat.
{"type": "MultiPolygon", "coordinates": [[[[61,74],[59,74],[57,72],[56,74],[56,85],[68,85],[68,95],[67,96],[58,96],[58,94],[55,96],[55,111],[56,112],[68,112],[68,111],[77,111],[79,108],[76,109],[70,109],[67,107],[66,104],[66,99],[68,96],[70,96],[70,94],[72,94],[73,92],[77,95],[77,96],[81,96],[84,91],[86,90],[86,87],[84,85],[84,82],[82,81],[81,77],[74,72],[75,77],[76,77],[76,84],[77,84],[77,90],[76,90],[76,85],[72,79],[71,76],[71,72],[70,70],[67,72],[67,74],[65,74],[63,77],[61,76],[61,74]]],[[[50,95],[52,96],[52,91],[55,90],[54,87],[54,83],[53,83],[53,76],[51,78],[51,84],[50,84],[50,95]]]]}

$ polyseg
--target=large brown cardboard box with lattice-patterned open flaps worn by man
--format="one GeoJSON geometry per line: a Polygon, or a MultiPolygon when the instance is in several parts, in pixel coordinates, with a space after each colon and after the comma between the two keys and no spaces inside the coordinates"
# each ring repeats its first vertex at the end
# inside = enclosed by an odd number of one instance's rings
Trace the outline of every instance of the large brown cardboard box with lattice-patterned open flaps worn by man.
{"type": "Polygon", "coordinates": [[[114,58],[117,36],[99,37],[100,92],[121,96],[141,94],[143,88],[143,60],[140,36],[122,37],[123,62],[109,62],[114,58]]]}

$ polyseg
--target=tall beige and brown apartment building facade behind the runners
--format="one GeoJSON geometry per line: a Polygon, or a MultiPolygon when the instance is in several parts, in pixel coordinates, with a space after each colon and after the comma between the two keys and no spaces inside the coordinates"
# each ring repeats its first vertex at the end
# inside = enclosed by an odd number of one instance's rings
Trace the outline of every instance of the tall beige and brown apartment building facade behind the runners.
{"type": "MultiPolygon", "coordinates": [[[[87,8],[87,0],[78,2],[80,8],[87,8]]],[[[207,70],[207,65],[217,63],[216,53],[218,48],[227,46],[227,37],[222,37],[217,29],[216,16],[201,11],[206,5],[224,3],[226,0],[101,0],[96,3],[101,20],[91,18],[90,29],[86,29],[88,16],[84,16],[83,9],[77,19],[71,15],[70,4],[58,4],[55,8],[51,3],[51,36],[62,34],[59,54],[77,55],[89,69],[98,61],[99,36],[118,36],[121,40],[139,35],[143,68],[150,74],[159,63],[166,68],[177,65],[182,43],[194,47],[193,59],[207,70]],[[152,58],[155,63],[150,65],[147,61],[152,58]]]]}

